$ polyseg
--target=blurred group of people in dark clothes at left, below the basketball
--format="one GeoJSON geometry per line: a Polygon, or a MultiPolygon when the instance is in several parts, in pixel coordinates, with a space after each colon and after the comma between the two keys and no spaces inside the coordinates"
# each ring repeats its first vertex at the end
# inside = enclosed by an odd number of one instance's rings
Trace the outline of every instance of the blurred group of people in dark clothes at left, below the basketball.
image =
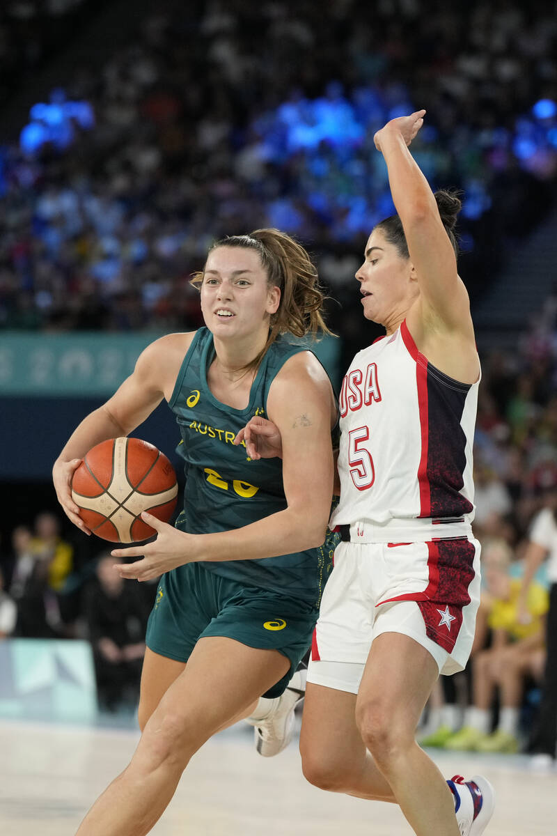
{"type": "MultiPolygon", "coordinates": [[[[0,639],[89,640],[99,705],[134,707],[144,656],[152,584],[126,584],[109,549],[90,558],[87,543],[61,534],[60,519],[41,512],[13,528],[0,553],[0,639]]],[[[107,544],[108,545],[108,544],[107,544]]]]}

